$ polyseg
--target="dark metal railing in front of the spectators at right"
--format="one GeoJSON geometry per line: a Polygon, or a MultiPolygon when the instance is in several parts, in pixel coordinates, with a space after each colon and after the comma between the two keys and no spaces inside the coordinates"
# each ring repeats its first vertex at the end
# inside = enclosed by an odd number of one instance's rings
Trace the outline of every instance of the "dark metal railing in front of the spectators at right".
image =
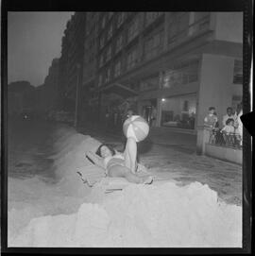
{"type": "Polygon", "coordinates": [[[242,149],[242,137],[237,133],[223,133],[220,130],[212,130],[209,144],[242,149]]]}

